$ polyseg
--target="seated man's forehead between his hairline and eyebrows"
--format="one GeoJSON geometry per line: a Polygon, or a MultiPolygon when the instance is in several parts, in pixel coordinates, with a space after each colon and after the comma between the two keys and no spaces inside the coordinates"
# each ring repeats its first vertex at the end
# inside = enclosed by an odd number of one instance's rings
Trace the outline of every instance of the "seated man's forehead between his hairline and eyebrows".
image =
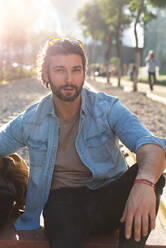
{"type": "Polygon", "coordinates": [[[79,54],[58,54],[50,57],[51,66],[82,66],[82,58],[79,54]]]}

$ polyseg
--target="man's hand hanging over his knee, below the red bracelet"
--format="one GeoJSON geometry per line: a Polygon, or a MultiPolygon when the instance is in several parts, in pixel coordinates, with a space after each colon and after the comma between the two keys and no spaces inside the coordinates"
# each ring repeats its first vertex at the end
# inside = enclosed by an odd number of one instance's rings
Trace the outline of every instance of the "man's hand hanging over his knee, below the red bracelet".
{"type": "Polygon", "coordinates": [[[148,229],[155,228],[156,196],[154,189],[146,184],[136,183],[129,194],[121,222],[125,222],[125,237],[129,239],[134,227],[134,239],[140,241],[148,229]]]}

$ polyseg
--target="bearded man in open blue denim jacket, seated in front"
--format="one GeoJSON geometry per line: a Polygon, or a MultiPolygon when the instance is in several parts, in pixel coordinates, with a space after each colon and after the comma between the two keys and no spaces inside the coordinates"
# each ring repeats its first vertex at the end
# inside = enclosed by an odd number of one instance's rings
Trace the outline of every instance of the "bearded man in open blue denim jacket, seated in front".
{"type": "Polygon", "coordinates": [[[40,57],[52,94],[0,132],[0,154],[28,146],[25,213],[16,229],[40,226],[51,248],[83,248],[91,234],[120,229],[119,247],[144,247],[164,186],[166,142],[154,137],[120,101],[82,86],[82,42],[54,38],[40,57]],[[127,170],[120,139],[136,152],[127,170]]]}

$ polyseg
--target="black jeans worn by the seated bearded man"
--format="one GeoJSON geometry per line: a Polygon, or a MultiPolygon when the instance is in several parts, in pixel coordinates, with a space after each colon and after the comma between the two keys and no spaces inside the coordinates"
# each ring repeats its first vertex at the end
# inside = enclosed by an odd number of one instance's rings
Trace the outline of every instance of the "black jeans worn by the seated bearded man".
{"type": "MultiPolygon", "coordinates": [[[[51,248],[85,248],[90,235],[119,229],[120,248],[144,247],[147,237],[140,242],[124,236],[120,218],[128,198],[138,166],[133,165],[118,180],[98,190],[86,187],[64,188],[54,191],[43,211],[45,232],[51,248]]],[[[156,184],[157,209],[165,180],[156,184]]],[[[149,230],[150,233],[150,230],[149,230]]]]}

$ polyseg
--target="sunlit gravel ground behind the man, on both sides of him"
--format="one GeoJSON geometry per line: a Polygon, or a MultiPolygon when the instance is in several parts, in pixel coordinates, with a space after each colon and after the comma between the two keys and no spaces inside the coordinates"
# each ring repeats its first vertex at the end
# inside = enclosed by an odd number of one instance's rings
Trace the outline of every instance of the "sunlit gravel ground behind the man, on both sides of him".
{"type": "MultiPolygon", "coordinates": [[[[124,92],[115,87],[106,89],[103,83],[88,82],[99,91],[105,91],[107,94],[119,97],[122,103],[134,112],[153,134],[166,138],[165,105],[148,99],[142,93],[124,92]]],[[[48,93],[49,90],[44,88],[36,79],[23,79],[0,85],[0,126],[48,93]]],[[[28,162],[27,149],[20,149],[19,153],[28,162]]]]}

